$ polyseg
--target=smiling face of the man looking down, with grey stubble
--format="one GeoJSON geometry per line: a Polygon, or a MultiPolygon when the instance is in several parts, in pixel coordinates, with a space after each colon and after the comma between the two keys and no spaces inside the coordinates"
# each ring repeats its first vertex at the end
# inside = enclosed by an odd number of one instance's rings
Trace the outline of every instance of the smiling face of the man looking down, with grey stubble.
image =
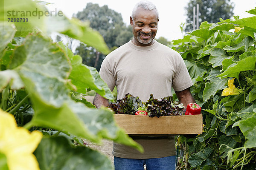
{"type": "Polygon", "coordinates": [[[134,34],[134,44],[138,46],[148,46],[153,42],[157,34],[158,24],[157,11],[145,10],[141,7],[137,9],[134,15],[134,20],[130,17],[130,23],[134,34]]]}

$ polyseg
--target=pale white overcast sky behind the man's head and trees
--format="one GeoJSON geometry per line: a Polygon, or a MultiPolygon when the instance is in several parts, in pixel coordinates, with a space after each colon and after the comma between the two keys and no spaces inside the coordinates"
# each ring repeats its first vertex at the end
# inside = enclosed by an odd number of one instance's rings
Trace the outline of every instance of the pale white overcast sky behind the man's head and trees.
{"type": "MultiPolygon", "coordinates": [[[[126,25],[130,24],[129,17],[134,5],[139,0],[45,0],[49,10],[62,11],[68,18],[78,11],[82,11],[87,3],[97,3],[99,6],[107,5],[108,8],[121,13],[122,19],[126,25]]],[[[156,38],[165,37],[167,40],[182,39],[183,34],[180,31],[180,24],[186,22],[185,6],[189,0],[150,0],[155,4],[159,12],[159,23],[156,38]]],[[[247,13],[250,9],[256,7],[256,0],[230,0],[234,3],[234,15],[239,15],[240,19],[253,17],[247,13]]]]}

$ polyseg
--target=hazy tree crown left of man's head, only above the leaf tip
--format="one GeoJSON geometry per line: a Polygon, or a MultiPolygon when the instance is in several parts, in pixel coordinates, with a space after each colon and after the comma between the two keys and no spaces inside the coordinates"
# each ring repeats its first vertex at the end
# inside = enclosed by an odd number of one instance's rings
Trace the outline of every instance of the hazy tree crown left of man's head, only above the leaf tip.
{"type": "Polygon", "coordinates": [[[107,5],[100,7],[98,4],[87,3],[83,11],[74,16],[81,21],[89,21],[90,27],[102,34],[109,48],[123,45],[133,37],[131,28],[125,26],[121,14],[107,5]]]}

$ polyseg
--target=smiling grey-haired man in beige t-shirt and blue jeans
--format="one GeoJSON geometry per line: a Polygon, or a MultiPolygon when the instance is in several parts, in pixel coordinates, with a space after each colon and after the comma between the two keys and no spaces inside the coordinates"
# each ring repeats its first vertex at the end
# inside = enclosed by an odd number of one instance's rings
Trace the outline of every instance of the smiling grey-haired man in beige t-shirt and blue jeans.
{"type": "MultiPolygon", "coordinates": [[[[154,40],[158,26],[158,11],[154,4],[141,1],[130,17],[133,40],[112,51],[102,62],[99,71],[102,79],[113,90],[117,99],[125,94],[139,96],[146,102],[150,94],[155,98],[172,95],[172,87],[186,107],[195,102],[189,87],[193,85],[186,65],[176,51],[154,40]]],[[[108,100],[96,94],[93,104],[97,108],[108,106],[108,100]]],[[[143,127],[142,127],[143,128],[143,127]]],[[[174,136],[131,136],[145,152],[113,144],[116,170],[175,170],[174,136]]]]}

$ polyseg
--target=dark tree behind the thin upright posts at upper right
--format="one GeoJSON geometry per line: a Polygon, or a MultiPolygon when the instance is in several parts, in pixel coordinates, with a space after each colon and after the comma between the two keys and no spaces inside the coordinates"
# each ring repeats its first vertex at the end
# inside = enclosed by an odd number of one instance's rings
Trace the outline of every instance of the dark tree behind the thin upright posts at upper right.
{"type": "Polygon", "coordinates": [[[204,21],[217,23],[219,18],[226,20],[234,14],[234,4],[230,0],[190,0],[185,7],[187,11],[186,23],[188,23],[185,31],[193,29],[193,6],[196,6],[196,4],[199,4],[199,24],[204,21]]]}

